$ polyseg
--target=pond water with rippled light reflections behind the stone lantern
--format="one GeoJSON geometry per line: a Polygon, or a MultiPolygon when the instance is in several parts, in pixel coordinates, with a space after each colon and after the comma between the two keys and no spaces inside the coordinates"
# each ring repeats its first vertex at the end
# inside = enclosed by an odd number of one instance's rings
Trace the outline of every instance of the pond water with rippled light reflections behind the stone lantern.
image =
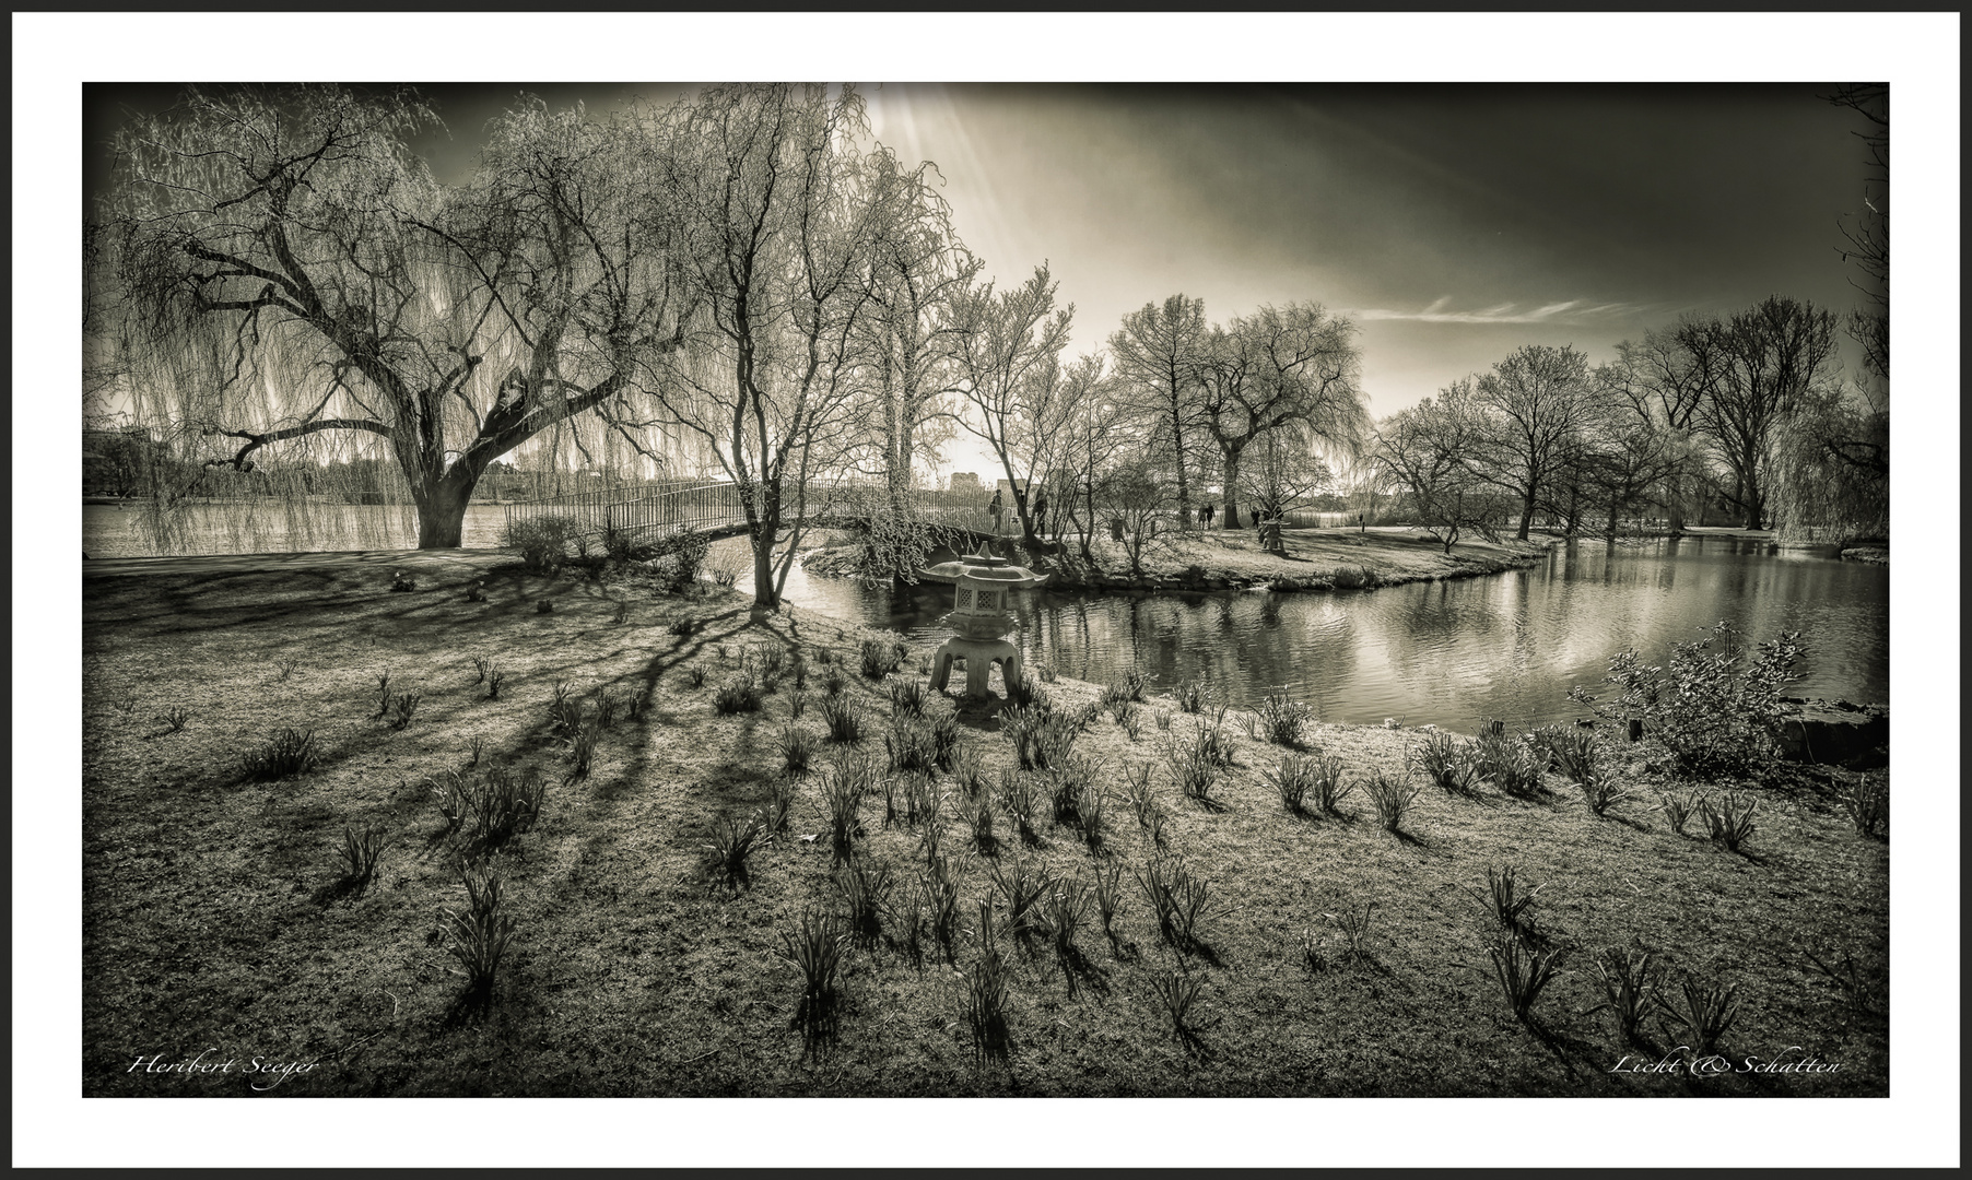
{"type": "MultiPolygon", "coordinates": [[[[862,591],[789,577],[789,599],[925,642],[951,587],[862,591]]],[[[1779,556],[1727,538],[1556,548],[1534,569],[1373,593],[1020,595],[1027,660],[1106,682],[1132,660],[1156,686],[1209,678],[1252,703],[1288,689],[1325,719],[1402,717],[1473,731],[1580,715],[1574,684],[1597,684],[1609,656],[1656,662],[1720,619],[1753,638],[1800,630],[1802,695],[1889,701],[1889,573],[1828,557],[1779,556]]]]}

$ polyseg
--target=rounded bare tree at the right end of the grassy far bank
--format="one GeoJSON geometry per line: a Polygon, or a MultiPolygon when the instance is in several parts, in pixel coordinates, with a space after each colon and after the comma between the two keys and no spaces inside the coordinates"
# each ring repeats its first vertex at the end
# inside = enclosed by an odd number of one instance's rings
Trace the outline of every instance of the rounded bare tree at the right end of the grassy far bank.
{"type": "Polygon", "coordinates": [[[1546,483],[1572,457],[1591,402],[1587,357],[1570,347],[1522,345],[1479,378],[1477,404],[1489,429],[1475,471],[1520,498],[1522,542],[1546,483]]]}

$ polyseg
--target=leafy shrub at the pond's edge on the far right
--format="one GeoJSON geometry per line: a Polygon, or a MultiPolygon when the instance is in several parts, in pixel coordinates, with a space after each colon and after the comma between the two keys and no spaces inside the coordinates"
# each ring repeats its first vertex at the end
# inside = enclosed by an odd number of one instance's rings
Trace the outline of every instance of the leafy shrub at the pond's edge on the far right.
{"type": "Polygon", "coordinates": [[[1645,666],[1635,650],[1611,656],[1607,701],[1582,686],[1568,697],[1609,721],[1643,721],[1680,776],[1739,778],[1779,753],[1781,719],[1793,711],[1781,689],[1796,680],[1798,640],[1798,630],[1783,632],[1747,658],[1739,630],[1722,621],[1702,640],[1670,644],[1664,666],[1645,666]]]}

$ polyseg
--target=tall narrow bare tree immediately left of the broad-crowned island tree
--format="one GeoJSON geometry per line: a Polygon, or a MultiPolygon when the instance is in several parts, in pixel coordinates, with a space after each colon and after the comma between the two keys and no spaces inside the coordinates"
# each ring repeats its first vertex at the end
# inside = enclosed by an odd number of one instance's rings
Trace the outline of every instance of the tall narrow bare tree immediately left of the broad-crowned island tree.
{"type": "Polygon", "coordinates": [[[1171,469],[1177,518],[1191,522],[1193,449],[1205,435],[1199,366],[1205,362],[1205,299],[1171,295],[1144,303],[1110,333],[1116,378],[1128,404],[1154,427],[1150,453],[1171,469]]]}

